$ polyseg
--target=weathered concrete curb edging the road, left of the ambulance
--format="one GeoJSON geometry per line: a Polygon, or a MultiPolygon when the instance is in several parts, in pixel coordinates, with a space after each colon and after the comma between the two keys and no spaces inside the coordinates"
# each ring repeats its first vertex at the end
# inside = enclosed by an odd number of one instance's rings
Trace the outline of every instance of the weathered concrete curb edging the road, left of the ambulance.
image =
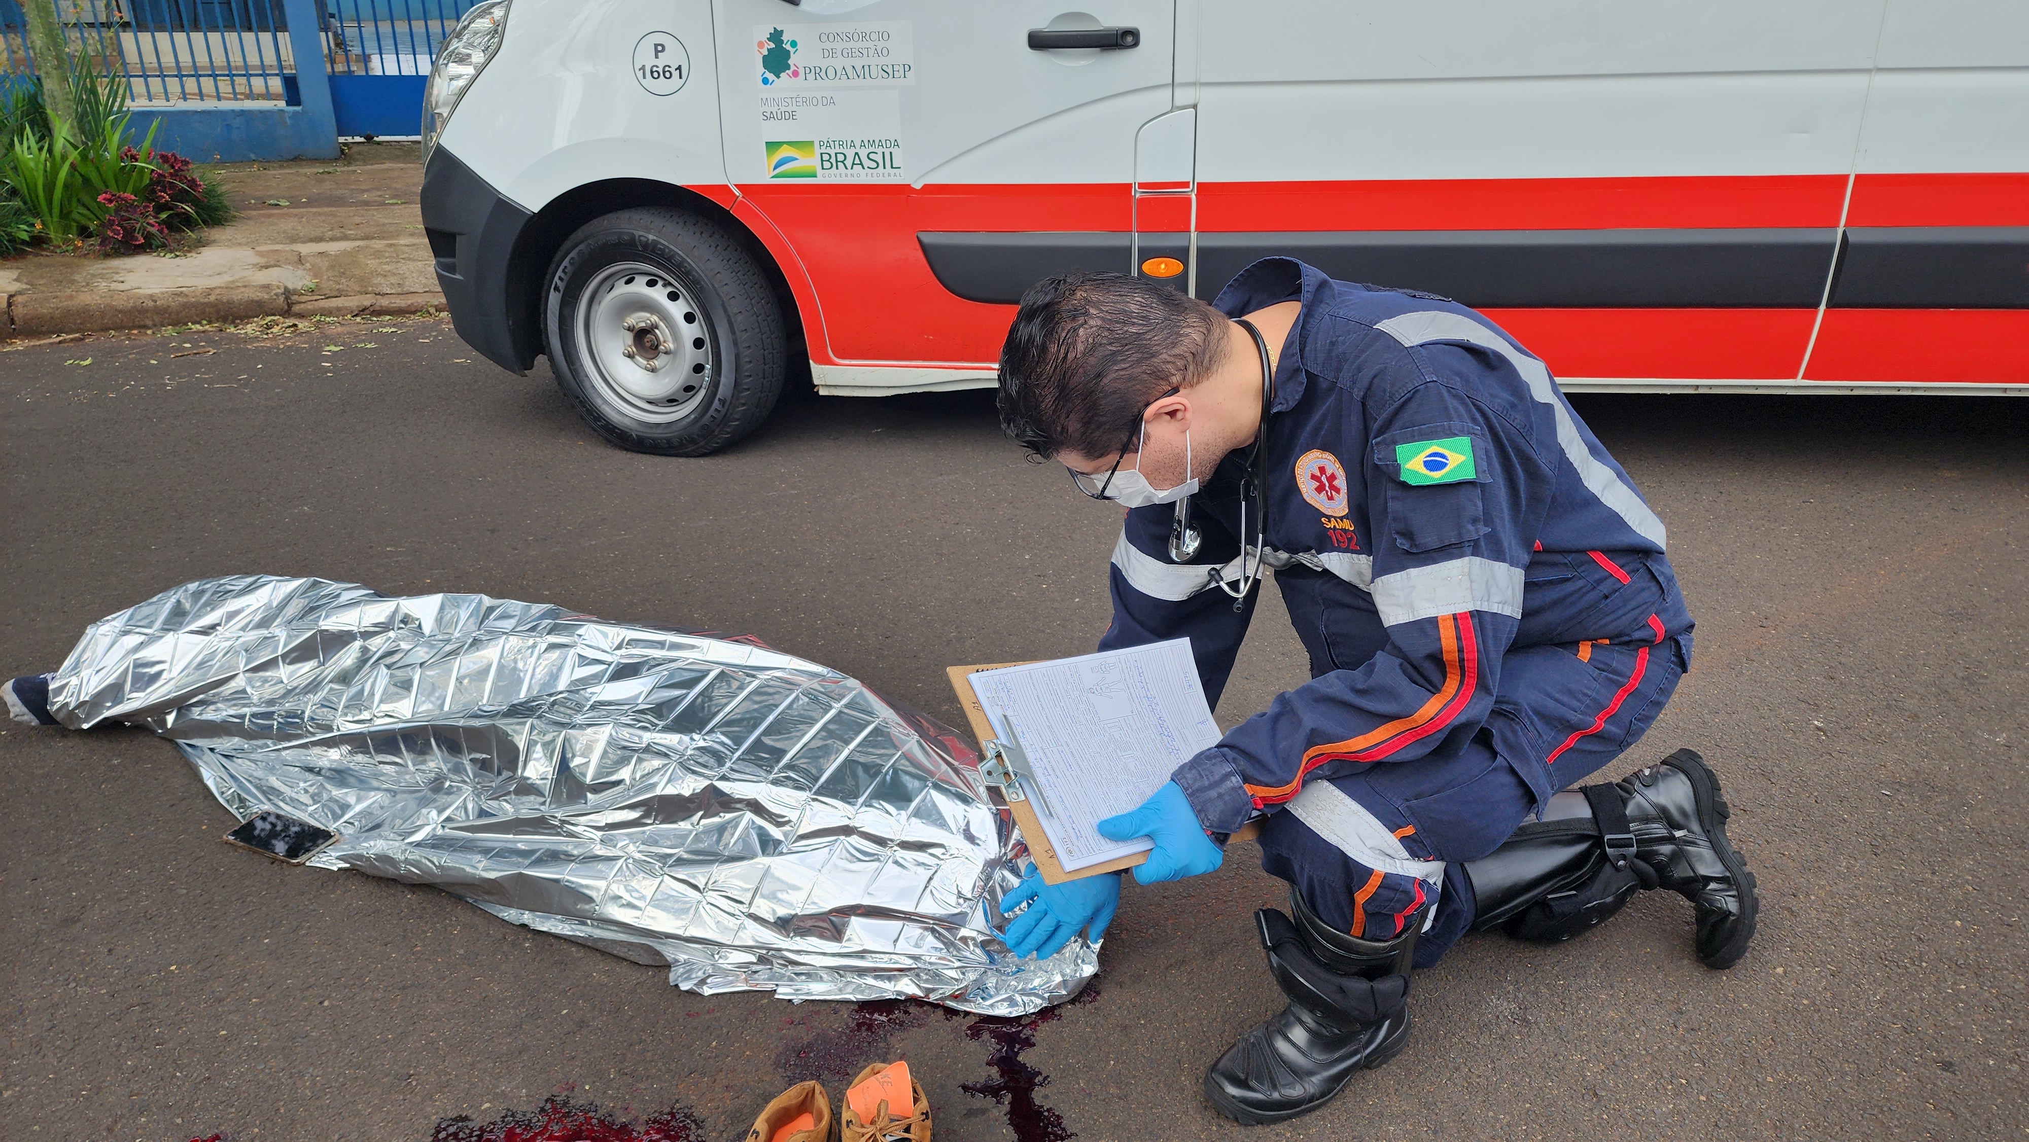
{"type": "Polygon", "coordinates": [[[442,310],[444,294],[292,298],[280,282],[177,290],[79,290],[0,294],[0,339],[112,333],[254,316],[408,316],[442,310]]]}

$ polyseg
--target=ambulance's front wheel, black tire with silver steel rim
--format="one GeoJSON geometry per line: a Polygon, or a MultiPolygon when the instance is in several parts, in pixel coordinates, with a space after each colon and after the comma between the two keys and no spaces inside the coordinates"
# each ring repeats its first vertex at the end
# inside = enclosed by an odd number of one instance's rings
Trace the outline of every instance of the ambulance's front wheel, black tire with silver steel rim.
{"type": "Polygon", "coordinates": [[[706,456],[775,410],[789,355],[781,308],[753,256],[712,221],[615,211],[564,239],[544,280],[550,371],[609,442],[706,456]]]}

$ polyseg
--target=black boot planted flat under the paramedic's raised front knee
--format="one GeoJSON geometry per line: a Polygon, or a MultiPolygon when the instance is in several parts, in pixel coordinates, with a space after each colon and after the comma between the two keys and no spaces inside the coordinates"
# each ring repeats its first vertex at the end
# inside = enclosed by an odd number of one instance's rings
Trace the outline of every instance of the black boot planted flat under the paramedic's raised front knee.
{"type": "Polygon", "coordinates": [[[1333,931],[1297,893],[1290,905],[1295,923],[1274,909],[1254,913],[1288,1006],[1205,1071],[1205,1097],[1246,1126],[1325,1105],[1357,1071],[1408,1043],[1408,968],[1428,905],[1404,921],[1402,935],[1380,941],[1333,931]]]}

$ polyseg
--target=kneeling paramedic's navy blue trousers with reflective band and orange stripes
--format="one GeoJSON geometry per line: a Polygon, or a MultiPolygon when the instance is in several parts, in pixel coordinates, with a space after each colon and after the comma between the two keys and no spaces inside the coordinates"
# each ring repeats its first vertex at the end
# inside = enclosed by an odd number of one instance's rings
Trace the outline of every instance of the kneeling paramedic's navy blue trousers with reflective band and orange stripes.
{"type": "MultiPolygon", "coordinates": [[[[1276,584],[1313,677],[1353,669],[1388,645],[1363,592],[1303,568],[1276,572],[1276,584]]],[[[1648,643],[1512,647],[1489,720],[1538,726],[1538,751],[1503,757],[1481,726],[1447,742],[1453,748],[1313,781],[1262,824],[1262,868],[1303,893],[1321,919],[1366,939],[1400,935],[1435,899],[1416,943],[1416,966],[1426,968],[1473,923],[1461,864],[1499,848],[1550,791],[1635,744],[1688,667],[1690,635],[1664,637],[1660,625],[1648,643]]]]}

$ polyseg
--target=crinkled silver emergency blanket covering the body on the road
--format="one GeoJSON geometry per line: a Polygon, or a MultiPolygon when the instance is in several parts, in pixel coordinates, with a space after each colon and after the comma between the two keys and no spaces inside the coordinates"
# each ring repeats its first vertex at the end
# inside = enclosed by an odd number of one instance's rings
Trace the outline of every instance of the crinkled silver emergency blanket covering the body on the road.
{"type": "Polygon", "coordinates": [[[1027,850],[950,728],[759,643],[483,594],[179,586],[51,680],[217,799],[339,834],[310,864],[436,884],[694,992],[1029,1014],[1098,970],[994,935],[1027,850]]]}

